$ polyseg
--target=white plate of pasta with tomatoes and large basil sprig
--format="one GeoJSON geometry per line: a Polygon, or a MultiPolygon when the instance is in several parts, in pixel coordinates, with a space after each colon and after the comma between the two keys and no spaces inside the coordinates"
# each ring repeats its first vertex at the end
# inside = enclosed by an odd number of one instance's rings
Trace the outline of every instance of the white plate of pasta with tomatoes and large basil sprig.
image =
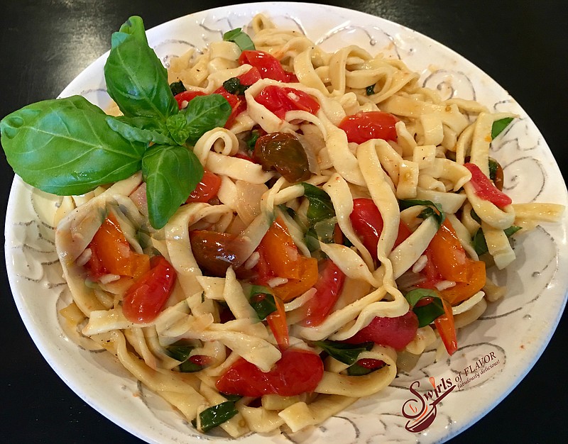
{"type": "Polygon", "coordinates": [[[535,124],[382,18],[133,16],[0,131],[26,328],[150,443],[447,440],[566,303],[568,195],[535,124]]]}

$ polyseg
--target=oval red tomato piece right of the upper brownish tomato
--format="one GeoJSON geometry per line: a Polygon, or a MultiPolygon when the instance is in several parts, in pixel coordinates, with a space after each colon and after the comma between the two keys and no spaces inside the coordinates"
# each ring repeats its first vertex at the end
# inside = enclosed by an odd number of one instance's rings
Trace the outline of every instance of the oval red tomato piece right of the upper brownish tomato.
{"type": "Polygon", "coordinates": [[[383,111],[359,112],[346,116],[339,128],[345,131],[348,142],[364,143],[371,139],[397,140],[395,124],[398,119],[383,111]]]}

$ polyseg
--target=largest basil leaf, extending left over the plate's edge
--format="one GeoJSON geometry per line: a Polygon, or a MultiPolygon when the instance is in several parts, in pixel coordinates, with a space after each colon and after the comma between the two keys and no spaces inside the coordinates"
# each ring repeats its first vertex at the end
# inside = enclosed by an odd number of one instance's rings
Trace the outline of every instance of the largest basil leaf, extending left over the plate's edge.
{"type": "Polygon", "coordinates": [[[6,158],[45,192],[84,194],[140,170],[146,145],[109,131],[107,115],[82,96],[40,101],[0,123],[6,158]]]}

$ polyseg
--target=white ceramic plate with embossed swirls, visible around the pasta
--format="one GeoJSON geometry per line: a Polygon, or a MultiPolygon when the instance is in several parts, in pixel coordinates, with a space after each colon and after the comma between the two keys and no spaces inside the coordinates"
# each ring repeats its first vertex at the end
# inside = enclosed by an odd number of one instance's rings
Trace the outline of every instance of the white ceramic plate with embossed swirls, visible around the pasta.
{"type": "MultiPolygon", "coordinates": [[[[148,31],[148,40],[167,63],[171,55],[192,46],[203,48],[261,12],[278,25],[300,29],[327,50],[356,44],[371,53],[400,57],[421,73],[422,84],[442,96],[476,99],[489,109],[517,113],[520,118],[493,142],[492,155],[505,168],[506,191],[517,202],[567,204],[566,187],[550,149],[515,100],[463,57],[403,26],[332,6],[243,4],[164,23],[148,31]]],[[[107,106],[106,57],[84,70],[62,96],[82,94],[103,108],[107,106]]],[[[14,180],[6,216],[6,264],[13,297],[35,344],[82,399],[119,426],[148,442],[197,442],[195,430],[158,396],[141,387],[108,353],[89,352],[62,330],[57,311],[65,305],[68,290],[53,245],[50,221],[55,205],[50,196],[31,189],[18,177],[14,180]]],[[[568,265],[567,225],[564,218],[561,224],[518,235],[518,259],[496,275],[500,284],[508,286],[506,298],[489,306],[479,321],[459,332],[460,348],[451,358],[444,356],[435,362],[434,353],[425,353],[418,367],[410,374],[400,374],[392,387],[361,399],[320,428],[297,433],[294,440],[437,442],[484,416],[530,370],[557,326],[568,287],[568,274],[558,272],[568,265]],[[535,250],[539,254],[528,254],[535,250]],[[432,403],[435,400],[439,401],[432,403]],[[419,433],[408,431],[405,426],[413,424],[408,416],[420,414],[423,406],[422,417],[432,420],[430,426],[419,433]]],[[[267,438],[254,434],[241,441],[289,442],[284,435],[267,438]]]]}

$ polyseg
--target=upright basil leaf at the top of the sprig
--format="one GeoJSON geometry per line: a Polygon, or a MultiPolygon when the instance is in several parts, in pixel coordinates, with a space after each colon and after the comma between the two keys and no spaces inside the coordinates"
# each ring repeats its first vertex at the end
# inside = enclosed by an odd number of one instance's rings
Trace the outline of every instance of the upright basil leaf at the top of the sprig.
{"type": "Polygon", "coordinates": [[[178,113],[168,72],[148,46],[143,21],[129,18],[111,39],[104,65],[107,90],[125,116],[151,116],[165,120],[178,113]]]}

